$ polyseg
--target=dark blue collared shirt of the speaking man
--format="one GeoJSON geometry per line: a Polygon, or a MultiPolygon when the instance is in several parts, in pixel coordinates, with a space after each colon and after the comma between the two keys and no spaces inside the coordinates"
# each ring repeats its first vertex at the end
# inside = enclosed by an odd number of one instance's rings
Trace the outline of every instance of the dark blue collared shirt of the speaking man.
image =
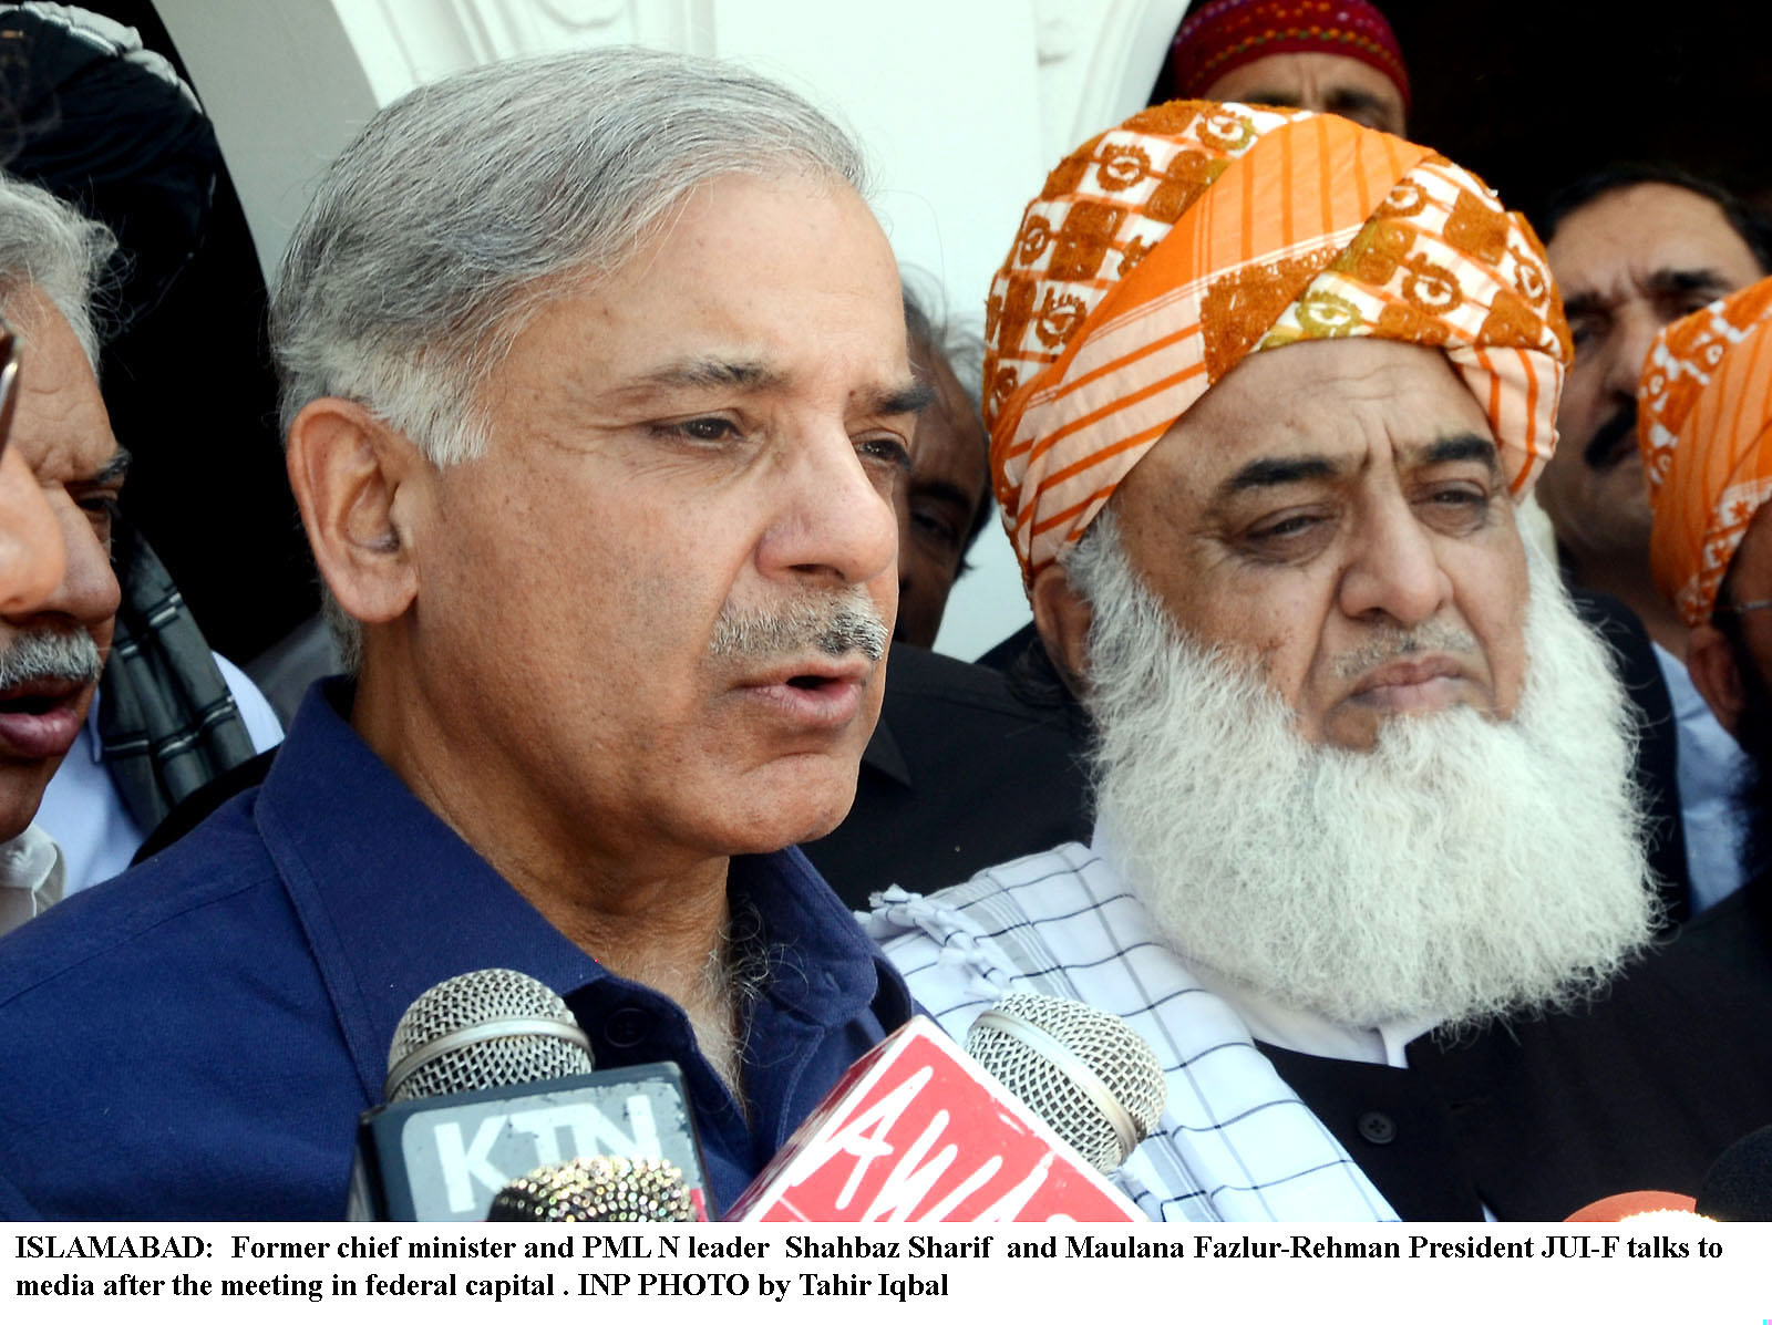
{"type": "Polygon", "coordinates": [[[514,967],[599,1068],[673,1061],[728,1206],[843,1068],[911,1013],[897,971],[794,848],[735,857],[773,953],[750,1121],[682,1010],[604,971],[432,815],[315,687],[264,785],[0,941],[0,1213],[340,1219],[356,1118],[431,985],[514,967]]]}

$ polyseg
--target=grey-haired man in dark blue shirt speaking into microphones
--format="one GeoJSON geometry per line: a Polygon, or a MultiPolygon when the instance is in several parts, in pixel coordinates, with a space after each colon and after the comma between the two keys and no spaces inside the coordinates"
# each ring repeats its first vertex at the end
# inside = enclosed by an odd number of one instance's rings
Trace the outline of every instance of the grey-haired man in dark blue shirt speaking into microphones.
{"type": "Polygon", "coordinates": [[[714,62],[491,66],[321,181],[273,340],[354,673],[264,786],[0,946],[0,1208],[344,1213],[424,988],[672,1059],[725,1208],[909,1013],[849,808],[927,388],[854,147],[714,62]]]}

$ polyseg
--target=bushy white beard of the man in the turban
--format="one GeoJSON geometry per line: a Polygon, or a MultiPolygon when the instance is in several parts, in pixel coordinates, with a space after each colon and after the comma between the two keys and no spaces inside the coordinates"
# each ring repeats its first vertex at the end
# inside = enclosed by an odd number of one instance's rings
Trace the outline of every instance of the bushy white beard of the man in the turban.
{"type": "Polygon", "coordinates": [[[1099,815],[1170,948],[1340,1026],[1448,1029],[1593,996],[1648,941],[1623,687],[1527,563],[1515,717],[1400,717],[1347,751],[1302,740],[1258,666],[1189,643],[1097,517],[1067,569],[1095,611],[1099,815]]]}

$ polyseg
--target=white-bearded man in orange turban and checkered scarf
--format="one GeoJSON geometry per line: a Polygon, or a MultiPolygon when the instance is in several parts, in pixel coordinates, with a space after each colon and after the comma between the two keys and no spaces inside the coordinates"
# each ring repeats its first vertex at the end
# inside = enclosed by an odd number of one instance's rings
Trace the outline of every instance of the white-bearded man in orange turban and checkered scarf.
{"type": "Polygon", "coordinates": [[[1687,1011],[1662,958],[1589,1006],[1653,879],[1623,693],[1515,523],[1568,360],[1526,223],[1396,138],[1175,103],[1053,172],[987,308],[996,489],[1099,817],[884,895],[918,1001],[1127,1017],[1170,1102],[1118,1180],[1157,1219],[1692,1190],[1772,1116],[1765,1054],[1724,1081],[1655,1029],[1687,1011]]]}

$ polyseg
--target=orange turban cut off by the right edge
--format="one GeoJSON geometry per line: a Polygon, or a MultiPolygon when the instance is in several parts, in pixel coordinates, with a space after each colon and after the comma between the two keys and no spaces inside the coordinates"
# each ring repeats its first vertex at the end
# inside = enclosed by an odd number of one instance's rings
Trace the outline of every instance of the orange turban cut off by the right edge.
{"type": "Polygon", "coordinates": [[[1703,625],[1772,496],[1772,278],[1657,333],[1637,445],[1655,508],[1650,570],[1685,624],[1703,625]]]}

